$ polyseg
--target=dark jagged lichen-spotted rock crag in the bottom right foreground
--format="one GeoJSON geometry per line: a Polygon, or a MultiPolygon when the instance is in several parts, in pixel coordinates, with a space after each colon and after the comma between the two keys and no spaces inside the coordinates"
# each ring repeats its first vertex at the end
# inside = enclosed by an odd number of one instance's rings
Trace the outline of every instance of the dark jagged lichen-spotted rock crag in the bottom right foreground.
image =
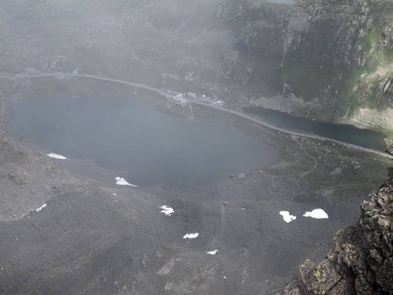
{"type": "Polygon", "coordinates": [[[336,248],[319,264],[306,260],[299,276],[276,295],[386,295],[393,293],[393,170],[361,204],[359,222],[334,237],[336,248]]]}

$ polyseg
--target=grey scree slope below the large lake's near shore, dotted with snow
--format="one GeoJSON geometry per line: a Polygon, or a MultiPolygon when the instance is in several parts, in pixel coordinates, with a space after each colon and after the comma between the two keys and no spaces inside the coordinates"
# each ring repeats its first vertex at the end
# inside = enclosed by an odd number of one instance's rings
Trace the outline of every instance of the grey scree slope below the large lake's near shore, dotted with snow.
{"type": "Polygon", "coordinates": [[[188,191],[104,186],[12,137],[1,142],[11,145],[1,165],[1,294],[266,294],[301,260],[320,258],[333,232],[356,218],[354,208],[296,201],[290,184],[253,174],[188,191]],[[315,206],[330,219],[287,224],[278,214],[315,206]],[[182,238],[194,232],[195,240],[182,238]]]}

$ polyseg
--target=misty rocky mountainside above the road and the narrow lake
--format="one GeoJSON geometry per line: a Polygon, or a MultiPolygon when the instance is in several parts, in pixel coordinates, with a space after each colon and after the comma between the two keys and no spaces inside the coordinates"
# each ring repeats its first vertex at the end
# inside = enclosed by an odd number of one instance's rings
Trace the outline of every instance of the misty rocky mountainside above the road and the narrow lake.
{"type": "Polygon", "coordinates": [[[233,109],[260,103],[392,126],[391,1],[31,3],[2,5],[2,71],[78,71],[203,94],[202,85],[233,109]]]}

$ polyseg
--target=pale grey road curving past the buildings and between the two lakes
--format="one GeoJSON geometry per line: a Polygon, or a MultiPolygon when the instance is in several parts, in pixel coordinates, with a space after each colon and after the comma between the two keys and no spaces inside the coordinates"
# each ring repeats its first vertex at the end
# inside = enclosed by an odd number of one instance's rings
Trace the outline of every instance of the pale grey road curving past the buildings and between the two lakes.
{"type": "MultiPolygon", "coordinates": [[[[1,106],[2,106],[2,112],[1,112],[1,116],[4,114],[4,99],[5,97],[7,97],[16,87],[17,85],[17,79],[30,79],[30,78],[44,78],[44,77],[55,77],[58,79],[71,79],[73,77],[82,77],[82,78],[89,78],[89,79],[94,79],[94,80],[102,80],[102,81],[109,81],[109,82],[114,82],[114,83],[119,83],[119,84],[124,84],[124,85],[129,85],[129,86],[133,86],[133,87],[137,87],[137,88],[143,88],[143,89],[148,89],[151,91],[154,91],[156,93],[159,93],[163,96],[165,96],[166,92],[161,90],[161,89],[157,89],[154,87],[150,87],[147,86],[145,84],[141,84],[141,83],[135,83],[135,82],[129,82],[129,81],[124,81],[124,80],[119,80],[119,79],[112,79],[112,78],[106,78],[106,77],[101,77],[101,76],[95,76],[95,75],[87,75],[87,74],[78,74],[78,73],[63,73],[63,72],[52,72],[52,73],[37,73],[37,74],[19,74],[19,75],[0,75],[0,78],[4,78],[4,79],[11,79],[15,81],[15,86],[13,89],[11,89],[11,91],[9,91],[6,95],[3,96],[2,100],[1,100],[1,106]]],[[[355,150],[361,150],[361,151],[365,151],[365,152],[370,152],[373,154],[377,154],[379,156],[382,157],[386,157],[386,158],[390,158],[393,159],[392,155],[389,155],[387,153],[384,153],[382,151],[378,151],[378,150],[374,150],[374,149],[370,149],[370,148],[363,148],[357,145],[353,145],[350,143],[346,143],[346,142],[341,142],[335,139],[330,139],[327,137],[323,137],[323,136],[318,136],[318,135],[314,135],[314,134],[308,134],[308,133],[302,133],[302,132],[296,132],[296,131],[291,131],[291,130],[287,130],[287,129],[283,129],[277,126],[274,126],[272,124],[266,123],[258,118],[254,118],[252,116],[249,116],[247,114],[238,112],[238,111],[234,111],[234,110],[229,110],[223,107],[219,107],[219,106],[213,106],[210,103],[207,102],[203,102],[203,101],[199,101],[197,99],[189,99],[190,102],[193,102],[197,105],[202,105],[208,108],[212,108],[212,109],[216,109],[219,110],[221,112],[225,112],[225,113],[229,113],[232,115],[236,115],[245,119],[248,119],[250,121],[253,121],[254,123],[260,124],[262,126],[265,126],[267,128],[270,128],[272,130],[276,130],[285,134],[289,134],[292,136],[298,136],[298,137],[304,137],[304,138],[310,138],[310,139],[316,139],[316,140],[320,140],[320,141],[330,141],[330,142],[334,142],[340,145],[343,145],[345,147],[348,148],[352,148],[355,150]]]]}

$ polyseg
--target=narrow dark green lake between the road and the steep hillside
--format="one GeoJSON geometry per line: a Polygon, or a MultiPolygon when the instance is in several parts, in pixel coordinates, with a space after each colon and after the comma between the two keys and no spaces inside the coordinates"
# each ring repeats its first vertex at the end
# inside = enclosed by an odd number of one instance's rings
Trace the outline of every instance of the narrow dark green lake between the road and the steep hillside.
{"type": "Polygon", "coordinates": [[[243,111],[248,114],[257,115],[263,121],[284,129],[316,134],[380,151],[386,147],[384,139],[387,136],[381,132],[360,129],[352,125],[313,121],[262,107],[244,107],[243,111]]]}

